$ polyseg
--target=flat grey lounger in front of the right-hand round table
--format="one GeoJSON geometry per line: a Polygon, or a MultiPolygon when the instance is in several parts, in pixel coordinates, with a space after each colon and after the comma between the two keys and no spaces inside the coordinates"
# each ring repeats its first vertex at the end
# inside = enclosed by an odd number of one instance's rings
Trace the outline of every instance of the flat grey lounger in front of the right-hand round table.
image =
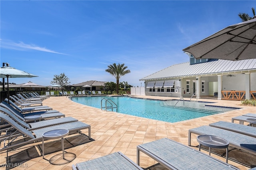
{"type": "Polygon", "coordinates": [[[138,145],[138,165],[140,151],[172,170],[238,170],[230,164],[167,138],[138,145]]]}

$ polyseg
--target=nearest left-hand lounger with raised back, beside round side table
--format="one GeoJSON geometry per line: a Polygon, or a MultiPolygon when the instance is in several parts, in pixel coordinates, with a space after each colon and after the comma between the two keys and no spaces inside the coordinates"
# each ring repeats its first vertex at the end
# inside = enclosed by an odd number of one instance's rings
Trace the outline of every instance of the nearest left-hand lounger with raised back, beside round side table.
{"type": "MultiPolygon", "coordinates": [[[[55,130],[55,129],[67,129],[69,132],[77,131],[78,133],[80,133],[80,130],[82,130],[82,129],[88,129],[88,138],[91,139],[91,126],[86,123],[80,122],[80,121],[64,123],[64,124],[60,124],[60,125],[55,125],[55,126],[50,126],[50,127],[45,127],[45,128],[29,131],[28,129],[20,126],[16,121],[11,119],[7,115],[6,116],[3,115],[3,117],[1,116],[1,119],[4,119],[14,129],[19,131],[20,134],[23,136],[23,138],[22,138],[22,140],[20,140],[20,142],[17,142],[16,140],[12,140],[8,144],[4,144],[4,147],[0,149],[0,152],[2,152],[4,150],[8,151],[8,150],[11,150],[14,148],[22,147],[22,146],[30,144],[30,143],[42,141],[42,135],[45,132],[55,130]],[[33,135],[33,133],[34,133],[34,135],[33,135]]],[[[70,133],[70,134],[72,134],[72,133],[70,133]]]]}

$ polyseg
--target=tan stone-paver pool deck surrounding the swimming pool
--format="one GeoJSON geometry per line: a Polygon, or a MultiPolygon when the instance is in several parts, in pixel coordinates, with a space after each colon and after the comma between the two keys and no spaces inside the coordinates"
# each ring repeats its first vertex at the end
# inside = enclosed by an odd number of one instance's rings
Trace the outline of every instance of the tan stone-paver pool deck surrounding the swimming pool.
{"type": "MultiPolygon", "coordinates": [[[[160,96],[134,97],[157,100],[177,100],[177,98],[160,96]]],[[[185,100],[190,99],[185,98],[185,100]]],[[[83,136],[76,134],[72,136],[72,140],[71,138],[70,140],[64,140],[65,151],[68,153],[72,153],[70,155],[70,159],[72,159],[72,157],[74,157],[75,154],[75,159],[66,164],[62,164],[63,162],[61,162],[62,151],[60,150],[59,143],[57,143],[57,145],[56,142],[49,142],[47,147],[48,141],[46,141],[45,159],[42,158],[42,156],[40,155],[40,151],[38,151],[38,149],[35,149],[37,152],[30,150],[31,148],[36,148],[34,147],[35,145],[40,146],[42,145],[42,143],[36,143],[32,147],[28,147],[28,145],[25,147],[21,147],[19,149],[8,152],[8,155],[11,156],[11,162],[13,161],[14,163],[22,164],[21,166],[17,166],[12,169],[70,170],[72,169],[72,164],[98,158],[100,156],[104,156],[117,151],[122,152],[128,158],[136,162],[137,145],[140,145],[142,143],[148,143],[165,137],[180,142],[184,145],[188,145],[189,129],[199,127],[202,125],[209,125],[210,123],[214,123],[217,121],[231,122],[232,117],[236,117],[238,115],[243,115],[246,113],[256,113],[256,107],[240,106],[240,101],[216,100],[215,98],[198,99],[198,101],[216,102],[214,103],[214,105],[240,107],[242,109],[232,110],[226,113],[219,113],[216,115],[209,115],[206,117],[200,117],[176,123],[168,123],[164,121],[157,121],[142,117],[136,117],[132,115],[120,114],[116,112],[102,111],[94,107],[84,106],[82,104],[72,102],[65,96],[50,97],[43,101],[43,105],[52,107],[53,109],[64,113],[66,117],[71,116],[78,119],[79,121],[90,124],[92,140],[89,141],[88,138],[85,136],[88,135],[88,130],[82,130],[82,133],[85,134],[83,136]],[[50,145],[50,143],[52,143],[52,145],[50,145]],[[73,145],[72,147],[68,147],[70,143],[73,145]],[[57,152],[49,153],[56,148],[59,148],[57,152]],[[50,158],[53,158],[53,156],[56,156],[57,154],[58,158],[60,159],[56,158],[55,163],[58,165],[50,164],[50,158]]],[[[2,145],[3,144],[1,143],[1,147],[2,145]]],[[[192,135],[191,145],[193,146],[194,149],[198,149],[196,135],[192,135]]],[[[208,150],[202,150],[202,152],[208,154],[208,150]]],[[[223,152],[225,152],[225,150],[223,152]]],[[[68,153],[66,153],[65,157],[67,159],[69,158],[68,153]]],[[[218,156],[217,154],[214,153],[212,153],[211,156],[225,162],[225,157],[223,156],[218,156]]],[[[234,157],[232,158],[233,160],[236,160],[239,157],[240,159],[244,159],[245,162],[246,160],[250,159],[250,156],[251,154],[244,152],[241,154],[241,151],[234,153],[234,155],[232,155],[232,153],[229,154],[230,158],[234,157]]],[[[252,161],[254,161],[252,164],[256,166],[255,157],[253,157],[252,159],[252,161]]],[[[228,160],[228,163],[240,168],[241,170],[250,169],[250,164],[243,165],[233,160],[228,160]]],[[[6,163],[6,152],[0,153],[0,162],[1,165],[6,163]]],[[[140,166],[142,168],[150,170],[166,169],[159,165],[158,162],[149,158],[145,154],[141,154],[140,156],[140,166]]],[[[1,169],[8,168],[1,167],[1,169]]]]}

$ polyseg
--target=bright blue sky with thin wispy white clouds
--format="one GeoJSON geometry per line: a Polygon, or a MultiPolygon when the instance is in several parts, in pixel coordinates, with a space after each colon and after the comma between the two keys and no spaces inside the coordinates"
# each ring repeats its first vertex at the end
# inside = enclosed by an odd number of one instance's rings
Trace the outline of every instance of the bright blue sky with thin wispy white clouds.
{"type": "MultiPolygon", "coordinates": [[[[182,49],[252,16],[255,1],[0,1],[0,64],[38,77],[10,78],[50,86],[65,73],[70,84],[113,81],[105,70],[124,63],[141,78],[189,61],[182,49]]],[[[2,81],[2,80],[1,80],[2,81]]]]}

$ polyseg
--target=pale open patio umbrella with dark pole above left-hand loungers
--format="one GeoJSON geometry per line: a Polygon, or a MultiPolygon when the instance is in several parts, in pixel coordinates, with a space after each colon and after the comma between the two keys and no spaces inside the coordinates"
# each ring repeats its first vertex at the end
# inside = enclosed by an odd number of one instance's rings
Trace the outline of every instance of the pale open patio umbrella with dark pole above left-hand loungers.
{"type": "Polygon", "coordinates": [[[9,103],[9,78],[22,78],[22,77],[38,77],[34,74],[18,70],[16,68],[10,67],[7,63],[6,66],[0,68],[0,78],[7,78],[7,97],[9,103]]]}

